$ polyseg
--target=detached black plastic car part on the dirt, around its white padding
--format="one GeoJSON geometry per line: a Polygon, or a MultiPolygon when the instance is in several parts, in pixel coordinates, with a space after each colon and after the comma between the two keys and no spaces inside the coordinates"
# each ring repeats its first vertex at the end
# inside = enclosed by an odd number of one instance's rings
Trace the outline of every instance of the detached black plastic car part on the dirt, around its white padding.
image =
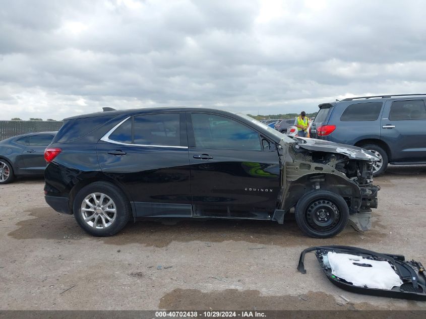
{"type": "Polygon", "coordinates": [[[320,263],[321,269],[327,278],[334,285],[342,289],[381,297],[426,301],[426,273],[419,262],[413,260],[406,261],[404,256],[398,254],[379,253],[351,246],[317,246],[307,248],[301,252],[297,270],[302,274],[306,274],[304,265],[305,255],[310,251],[315,251],[315,255],[320,263]],[[330,251],[353,254],[375,261],[387,261],[395,273],[400,277],[403,284],[400,287],[393,287],[389,290],[355,286],[343,278],[334,276],[331,268],[324,264],[324,256],[326,256],[330,251]]]}

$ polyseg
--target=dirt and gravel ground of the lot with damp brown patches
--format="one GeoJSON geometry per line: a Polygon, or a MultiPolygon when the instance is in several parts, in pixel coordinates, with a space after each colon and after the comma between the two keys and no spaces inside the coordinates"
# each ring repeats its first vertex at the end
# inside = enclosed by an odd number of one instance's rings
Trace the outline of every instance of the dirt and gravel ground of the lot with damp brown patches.
{"type": "Polygon", "coordinates": [[[333,286],[313,253],[343,244],[401,253],[426,264],[426,167],[391,167],[373,228],[305,237],[294,221],[137,222],[108,238],[85,234],[43,198],[42,179],[0,186],[2,309],[426,309],[333,286]],[[161,266],[161,269],[159,266],[161,266]],[[339,295],[350,300],[346,303],[339,295]]]}

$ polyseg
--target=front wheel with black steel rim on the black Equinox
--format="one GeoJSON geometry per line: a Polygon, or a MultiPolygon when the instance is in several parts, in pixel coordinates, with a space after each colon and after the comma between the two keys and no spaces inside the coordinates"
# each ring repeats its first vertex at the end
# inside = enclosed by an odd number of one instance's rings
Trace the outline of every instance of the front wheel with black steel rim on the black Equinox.
{"type": "Polygon", "coordinates": [[[349,208],[343,197],[338,194],[327,190],[312,190],[298,201],[294,217],[297,226],[306,235],[329,238],[346,227],[349,208]]]}

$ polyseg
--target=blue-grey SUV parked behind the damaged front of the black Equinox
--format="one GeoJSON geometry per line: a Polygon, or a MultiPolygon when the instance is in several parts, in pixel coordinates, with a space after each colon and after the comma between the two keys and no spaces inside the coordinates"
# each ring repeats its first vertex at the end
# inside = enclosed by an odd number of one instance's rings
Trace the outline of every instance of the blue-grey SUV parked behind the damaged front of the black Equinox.
{"type": "Polygon", "coordinates": [[[426,164],[426,94],[363,96],[320,104],[311,137],[355,145],[390,164],[426,164]]]}

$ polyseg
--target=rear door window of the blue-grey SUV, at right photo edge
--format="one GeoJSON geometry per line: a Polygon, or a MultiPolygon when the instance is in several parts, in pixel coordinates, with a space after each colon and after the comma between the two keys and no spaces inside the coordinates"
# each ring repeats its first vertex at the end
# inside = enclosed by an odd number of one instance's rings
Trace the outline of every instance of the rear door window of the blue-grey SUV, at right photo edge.
{"type": "Polygon", "coordinates": [[[426,107],[423,100],[394,101],[389,112],[392,121],[426,119],[426,107]]]}

